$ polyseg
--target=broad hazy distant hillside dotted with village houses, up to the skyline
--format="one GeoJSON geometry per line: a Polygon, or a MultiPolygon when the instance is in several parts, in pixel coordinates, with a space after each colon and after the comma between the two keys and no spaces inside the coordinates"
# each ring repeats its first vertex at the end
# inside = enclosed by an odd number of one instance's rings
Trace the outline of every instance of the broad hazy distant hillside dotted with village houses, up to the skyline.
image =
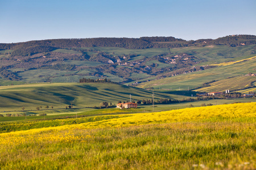
{"type": "MultiPolygon", "coordinates": [[[[0,84],[79,82],[81,78],[108,78],[119,83],[142,83],[139,87],[146,87],[149,86],[148,81],[163,79],[164,83],[151,83],[150,86],[175,88],[177,84],[170,84],[173,79],[180,76],[184,76],[180,79],[187,79],[185,74],[200,73],[200,79],[193,83],[192,88],[195,88],[212,80],[254,73],[255,58],[247,60],[254,56],[254,35],[232,35],[215,40],[195,41],[174,37],[141,37],[56,39],[0,44],[0,84]],[[241,61],[243,65],[239,64],[240,69],[243,68],[241,71],[232,71],[238,63],[216,65],[241,59],[244,59],[241,61]],[[216,74],[201,75],[209,72],[216,74]],[[146,84],[143,85],[143,82],[146,84]]],[[[249,81],[253,82],[254,79],[249,81]]]]}

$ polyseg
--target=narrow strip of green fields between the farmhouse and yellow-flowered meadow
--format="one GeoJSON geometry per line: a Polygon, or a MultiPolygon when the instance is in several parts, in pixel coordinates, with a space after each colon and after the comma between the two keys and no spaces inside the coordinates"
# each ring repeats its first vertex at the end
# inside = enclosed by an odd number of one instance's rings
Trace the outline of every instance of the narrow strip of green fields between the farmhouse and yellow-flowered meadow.
{"type": "MultiPolygon", "coordinates": [[[[183,99],[186,99],[184,97],[183,99]]],[[[180,97],[181,100],[181,97],[180,97]]],[[[183,109],[183,108],[191,108],[193,107],[201,107],[201,104],[212,104],[212,105],[220,105],[220,104],[231,104],[231,103],[248,103],[255,102],[256,99],[217,99],[217,100],[195,100],[188,101],[183,103],[172,103],[172,104],[155,104],[153,108],[152,105],[138,105],[136,109],[117,109],[117,108],[108,108],[108,109],[92,109],[92,108],[77,108],[73,107],[73,109],[56,109],[56,108],[43,108],[40,111],[36,111],[35,108],[32,111],[28,111],[27,108],[24,111],[9,111],[9,112],[0,112],[5,117],[0,117],[0,122],[13,122],[13,121],[26,121],[27,120],[43,120],[44,116],[39,116],[39,114],[47,114],[46,119],[55,119],[55,118],[65,118],[65,117],[74,117],[76,115],[80,116],[98,116],[98,115],[109,115],[109,114],[127,114],[127,113],[144,113],[144,112],[162,112],[162,111],[170,111],[172,109],[183,109]],[[6,117],[6,114],[25,114],[27,117],[6,117]],[[26,118],[26,119],[25,119],[26,118]]],[[[20,110],[20,108],[18,108],[20,110]]]]}

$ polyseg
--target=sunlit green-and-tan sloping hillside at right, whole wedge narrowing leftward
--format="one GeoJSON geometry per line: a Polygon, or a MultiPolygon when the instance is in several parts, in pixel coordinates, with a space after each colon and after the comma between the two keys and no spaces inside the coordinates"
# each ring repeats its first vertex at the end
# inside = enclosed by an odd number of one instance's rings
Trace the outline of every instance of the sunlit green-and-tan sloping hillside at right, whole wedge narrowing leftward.
{"type": "MultiPolygon", "coordinates": [[[[234,58],[234,61],[241,57],[234,58]]],[[[243,57],[244,58],[244,57],[243,57]]],[[[247,58],[252,58],[247,56],[247,58]]],[[[222,62],[223,65],[223,62],[222,62]]],[[[139,84],[139,88],[154,87],[166,88],[172,90],[195,91],[224,91],[224,90],[241,90],[243,88],[255,87],[256,76],[247,75],[255,72],[256,59],[243,59],[241,62],[214,67],[208,70],[201,70],[191,73],[183,73],[167,78],[158,78],[150,82],[139,84]],[[213,82],[214,81],[214,82],[213,82]],[[210,83],[212,82],[212,83],[210,83]],[[205,83],[208,87],[204,87],[205,83]]]]}

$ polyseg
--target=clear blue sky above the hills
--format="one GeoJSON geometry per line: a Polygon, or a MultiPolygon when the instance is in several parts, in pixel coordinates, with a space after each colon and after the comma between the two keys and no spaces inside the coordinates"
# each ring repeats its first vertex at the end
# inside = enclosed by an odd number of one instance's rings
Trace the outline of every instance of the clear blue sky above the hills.
{"type": "Polygon", "coordinates": [[[0,42],[256,35],[255,0],[0,0],[0,42]]]}

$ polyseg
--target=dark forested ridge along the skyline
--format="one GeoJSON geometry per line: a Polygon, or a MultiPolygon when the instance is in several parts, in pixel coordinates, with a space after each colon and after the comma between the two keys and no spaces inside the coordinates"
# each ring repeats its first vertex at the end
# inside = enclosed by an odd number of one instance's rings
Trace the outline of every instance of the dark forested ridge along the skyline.
{"type": "MultiPolygon", "coordinates": [[[[72,48],[72,47],[94,47],[94,46],[113,46],[127,49],[145,49],[145,48],[179,48],[186,46],[205,46],[205,45],[230,45],[241,46],[256,44],[256,36],[254,35],[233,35],[225,36],[218,39],[200,39],[200,40],[182,40],[175,37],[141,37],[135,38],[91,38],[91,39],[52,39],[52,40],[36,40],[27,42],[18,42],[11,44],[0,44],[1,50],[20,49],[25,50],[34,46],[34,51],[40,52],[45,49],[52,48],[72,48]],[[159,43],[171,42],[171,43],[159,43]],[[35,46],[40,46],[35,47],[35,46]]],[[[33,53],[33,51],[31,50],[33,53]]],[[[18,53],[17,53],[18,54],[18,53]]]]}

